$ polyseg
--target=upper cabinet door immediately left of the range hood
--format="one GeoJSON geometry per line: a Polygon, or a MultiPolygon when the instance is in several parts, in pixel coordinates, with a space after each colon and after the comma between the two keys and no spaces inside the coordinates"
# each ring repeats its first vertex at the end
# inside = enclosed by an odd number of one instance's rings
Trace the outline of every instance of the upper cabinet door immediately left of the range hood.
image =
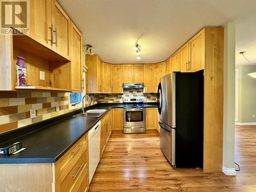
{"type": "Polygon", "coordinates": [[[112,93],[123,92],[123,66],[112,65],[112,93]]]}

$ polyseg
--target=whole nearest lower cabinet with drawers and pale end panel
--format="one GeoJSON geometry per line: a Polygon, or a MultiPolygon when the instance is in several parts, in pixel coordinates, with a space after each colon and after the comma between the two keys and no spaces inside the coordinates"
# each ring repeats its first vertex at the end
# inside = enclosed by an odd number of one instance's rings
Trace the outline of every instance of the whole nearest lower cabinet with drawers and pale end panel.
{"type": "Polygon", "coordinates": [[[87,133],[55,163],[0,164],[0,191],[86,192],[88,150],[87,133]]]}

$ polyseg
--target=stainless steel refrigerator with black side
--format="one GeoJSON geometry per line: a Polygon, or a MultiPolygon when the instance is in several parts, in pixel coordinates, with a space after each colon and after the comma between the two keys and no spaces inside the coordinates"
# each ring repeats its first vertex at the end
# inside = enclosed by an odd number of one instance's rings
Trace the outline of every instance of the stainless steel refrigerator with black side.
{"type": "Polygon", "coordinates": [[[160,79],[160,147],[176,167],[203,166],[203,71],[160,79]]]}

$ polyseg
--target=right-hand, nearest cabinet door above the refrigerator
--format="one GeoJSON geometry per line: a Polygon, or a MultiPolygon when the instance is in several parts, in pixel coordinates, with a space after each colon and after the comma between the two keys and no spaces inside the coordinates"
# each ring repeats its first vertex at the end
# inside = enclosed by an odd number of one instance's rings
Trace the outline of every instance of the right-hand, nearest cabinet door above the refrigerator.
{"type": "Polygon", "coordinates": [[[189,40],[189,61],[191,72],[204,69],[204,30],[189,40]]]}

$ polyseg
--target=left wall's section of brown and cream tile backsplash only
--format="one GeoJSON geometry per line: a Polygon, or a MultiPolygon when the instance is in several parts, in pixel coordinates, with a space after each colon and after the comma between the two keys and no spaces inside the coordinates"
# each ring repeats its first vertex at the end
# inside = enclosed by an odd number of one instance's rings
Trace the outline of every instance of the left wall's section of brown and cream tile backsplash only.
{"type": "Polygon", "coordinates": [[[69,93],[65,92],[0,92],[0,134],[77,108],[81,104],[69,108],[69,93]],[[30,118],[30,109],[36,109],[36,117],[30,118]]]}

